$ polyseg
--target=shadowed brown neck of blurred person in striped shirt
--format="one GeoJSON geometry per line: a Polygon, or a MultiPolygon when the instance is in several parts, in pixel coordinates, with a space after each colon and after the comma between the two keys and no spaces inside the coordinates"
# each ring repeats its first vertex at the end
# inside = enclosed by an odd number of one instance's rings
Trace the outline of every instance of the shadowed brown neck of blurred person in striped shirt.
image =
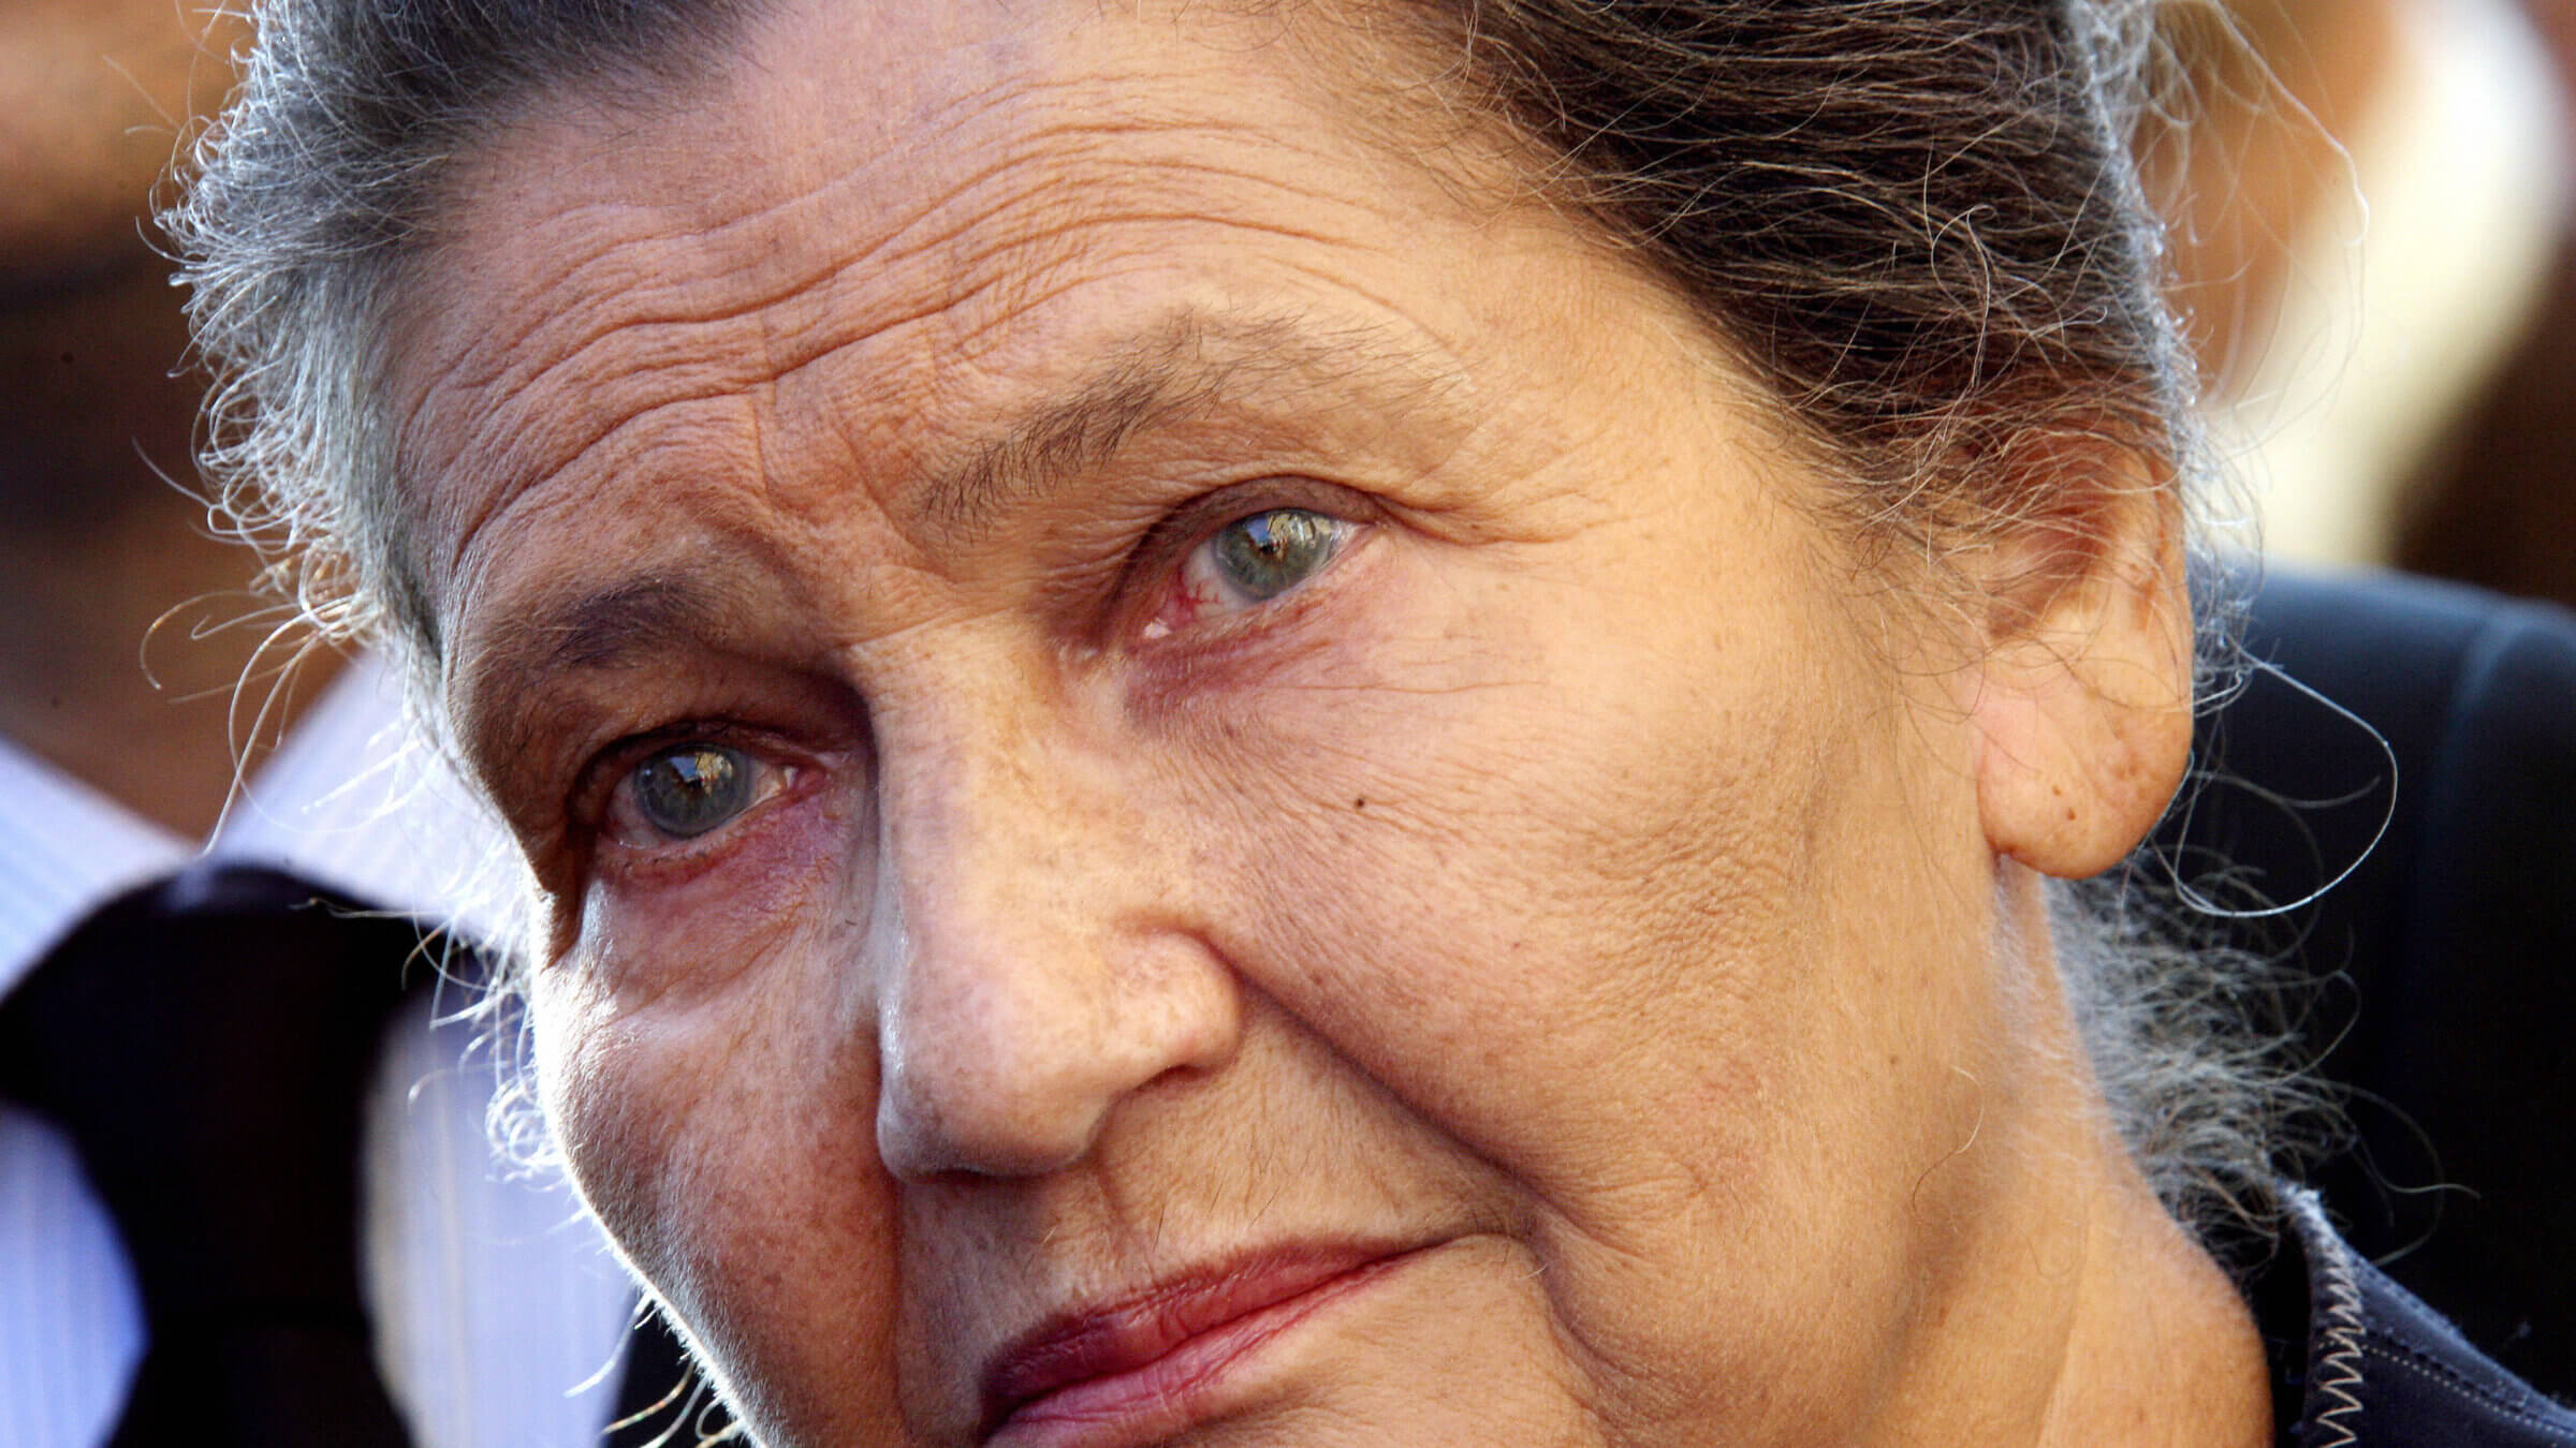
{"type": "Polygon", "coordinates": [[[283,660],[252,554],[183,492],[204,384],[183,356],[152,265],[0,309],[0,732],[193,840],[283,724],[258,719],[283,660]]]}

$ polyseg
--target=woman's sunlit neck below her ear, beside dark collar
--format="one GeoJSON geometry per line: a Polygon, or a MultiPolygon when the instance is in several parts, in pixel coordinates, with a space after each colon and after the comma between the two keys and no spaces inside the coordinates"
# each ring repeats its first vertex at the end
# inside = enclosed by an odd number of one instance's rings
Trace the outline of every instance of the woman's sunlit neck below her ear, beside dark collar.
{"type": "Polygon", "coordinates": [[[2030,1000],[1989,1062],[1981,1159],[1958,1165],[1953,1250],[1880,1438],[2262,1448],[2272,1394],[2254,1317],[2099,1108],[2040,881],[2004,871],[2002,928],[2027,961],[2030,1000]]]}

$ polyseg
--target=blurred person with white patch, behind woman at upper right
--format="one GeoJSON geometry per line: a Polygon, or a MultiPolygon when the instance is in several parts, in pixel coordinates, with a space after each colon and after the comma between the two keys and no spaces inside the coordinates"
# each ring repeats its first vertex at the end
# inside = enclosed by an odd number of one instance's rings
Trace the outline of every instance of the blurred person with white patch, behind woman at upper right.
{"type": "Polygon", "coordinates": [[[2566,0],[2174,0],[2177,301],[2267,554],[2576,600],[2566,0]]]}

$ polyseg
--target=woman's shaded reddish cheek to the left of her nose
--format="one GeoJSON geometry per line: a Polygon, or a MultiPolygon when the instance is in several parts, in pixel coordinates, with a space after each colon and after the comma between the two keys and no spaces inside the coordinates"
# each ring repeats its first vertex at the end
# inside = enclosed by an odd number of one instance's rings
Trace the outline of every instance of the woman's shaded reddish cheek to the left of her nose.
{"type": "Polygon", "coordinates": [[[791,1007],[827,956],[783,933],[724,989],[652,997],[569,958],[536,982],[531,1015],[582,1198],[755,1430],[876,1443],[896,1404],[894,1185],[876,1165],[871,1038],[791,1007]]]}

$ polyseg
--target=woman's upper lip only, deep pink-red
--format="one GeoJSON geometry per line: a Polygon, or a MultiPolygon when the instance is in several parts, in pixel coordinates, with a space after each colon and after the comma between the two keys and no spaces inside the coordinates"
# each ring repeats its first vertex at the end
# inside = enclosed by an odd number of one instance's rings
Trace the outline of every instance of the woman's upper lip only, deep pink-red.
{"type": "Polygon", "coordinates": [[[1056,1311],[984,1358],[979,1438],[992,1438],[1023,1404],[1061,1386],[1141,1368],[1203,1332],[1401,1252],[1363,1242],[1267,1247],[1056,1311]]]}

